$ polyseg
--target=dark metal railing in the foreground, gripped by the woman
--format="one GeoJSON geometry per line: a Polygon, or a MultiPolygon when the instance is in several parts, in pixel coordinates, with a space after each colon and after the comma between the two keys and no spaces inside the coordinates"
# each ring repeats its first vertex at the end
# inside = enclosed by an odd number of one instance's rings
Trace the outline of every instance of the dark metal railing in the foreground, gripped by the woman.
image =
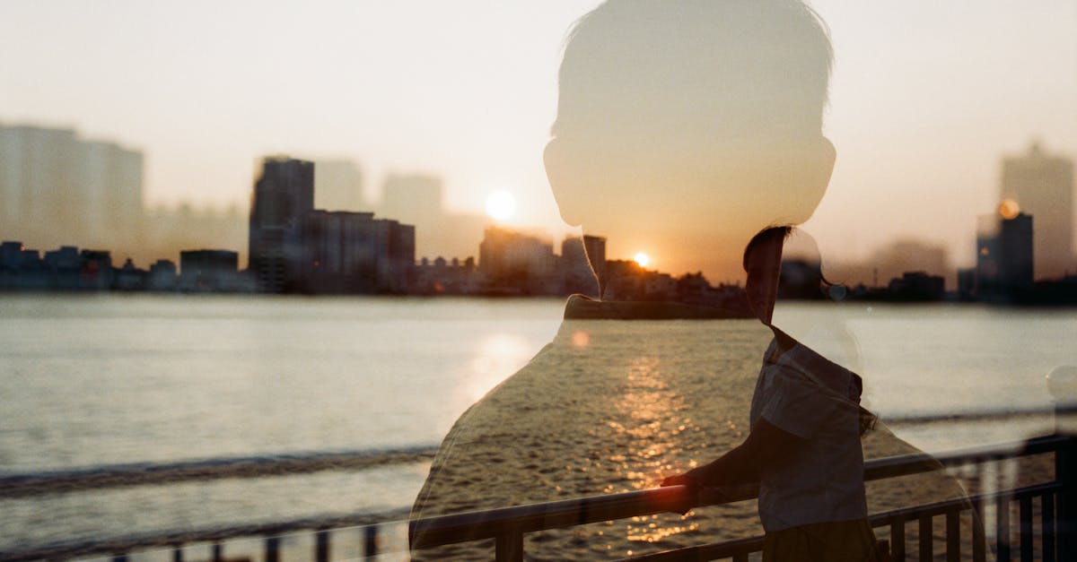
{"type": "MultiPolygon", "coordinates": [[[[1010,560],[1010,502],[1020,506],[1021,560],[1033,558],[1032,501],[1039,498],[1041,559],[1046,561],[1077,560],[1074,549],[1073,497],[1077,478],[1077,438],[1051,435],[1027,441],[977,447],[942,454],[909,454],[878,459],[865,463],[864,479],[881,480],[897,476],[937,470],[942,467],[979,464],[1016,459],[1033,454],[1054,454],[1055,477],[1051,482],[1016,490],[979,494],[937,504],[921,505],[878,514],[870,518],[872,526],[890,526],[891,553],[895,560],[905,560],[905,524],[918,521],[920,525],[920,560],[934,559],[932,524],[936,516],[947,520],[947,559],[959,560],[961,538],[957,535],[957,516],[963,510],[976,509],[982,518],[983,506],[994,502],[996,512],[995,554],[999,561],[1010,560]]],[[[729,497],[716,493],[689,493],[684,487],[670,487],[639,492],[565,500],[545,504],[506,507],[451,516],[414,520],[410,522],[412,548],[423,549],[461,542],[494,539],[496,559],[514,561],[523,559],[523,535],[527,533],[588,523],[598,523],[630,517],[662,512],[684,512],[694,507],[719,505],[754,497],[747,491],[729,497]]],[[[985,559],[985,538],[974,525],[974,560],[985,559]]],[[[982,530],[982,528],[979,528],[982,530]]],[[[716,545],[704,545],[671,550],[637,560],[714,560],[731,558],[746,561],[747,556],[763,548],[763,537],[752,537],[716,545]]]]}

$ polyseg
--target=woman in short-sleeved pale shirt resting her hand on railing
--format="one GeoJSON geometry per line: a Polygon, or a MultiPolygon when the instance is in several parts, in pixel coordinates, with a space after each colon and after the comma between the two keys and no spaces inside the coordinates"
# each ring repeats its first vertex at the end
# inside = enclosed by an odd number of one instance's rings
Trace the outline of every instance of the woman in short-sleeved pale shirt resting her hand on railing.
{"type": "Polygon", "coordinates": [[[861,378],[771,323],[789,227],[768,228],[744,251],[752,310],[774,333],[752,397],[744,442],[662,486],[759,482],[764,561],[873,561],[861,434],[861,378]]]}

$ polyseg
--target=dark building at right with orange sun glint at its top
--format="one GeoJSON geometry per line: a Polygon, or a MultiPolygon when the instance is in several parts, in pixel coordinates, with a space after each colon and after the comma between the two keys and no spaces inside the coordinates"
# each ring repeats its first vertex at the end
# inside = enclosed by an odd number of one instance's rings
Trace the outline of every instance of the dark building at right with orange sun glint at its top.
{"type": "Polygon", "coordinates": [[[976,294],[1009,299],[1033,289],[1033,217],[987,215],[976,236],[976,294]]]}

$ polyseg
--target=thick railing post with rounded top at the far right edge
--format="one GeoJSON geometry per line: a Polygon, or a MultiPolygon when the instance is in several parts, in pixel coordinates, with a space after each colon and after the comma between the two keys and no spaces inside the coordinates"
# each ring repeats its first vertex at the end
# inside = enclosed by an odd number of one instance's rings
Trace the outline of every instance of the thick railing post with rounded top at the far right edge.
{"type": "Polygon", "coordinates": [[[1047,375],[1054,398],[1054,432],[1066,436],[1054,452],[1054,479],[1060,484],[1055,504],[1058,559],[1077,560],[1077,437],[1063,427],[1062,418],[1077,405],[1077,366],[1061,365],[1047,375]]]}

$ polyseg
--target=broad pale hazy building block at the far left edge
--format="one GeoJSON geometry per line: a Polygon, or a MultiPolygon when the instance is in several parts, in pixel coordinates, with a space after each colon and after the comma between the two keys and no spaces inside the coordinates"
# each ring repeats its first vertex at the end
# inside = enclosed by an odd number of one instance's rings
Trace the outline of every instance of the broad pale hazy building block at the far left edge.
{"type": "Polygon", "coordinates": [[[129,251],[141,239],[143,158],[73,129],[0,126],[0,237],[129,251]]]}

